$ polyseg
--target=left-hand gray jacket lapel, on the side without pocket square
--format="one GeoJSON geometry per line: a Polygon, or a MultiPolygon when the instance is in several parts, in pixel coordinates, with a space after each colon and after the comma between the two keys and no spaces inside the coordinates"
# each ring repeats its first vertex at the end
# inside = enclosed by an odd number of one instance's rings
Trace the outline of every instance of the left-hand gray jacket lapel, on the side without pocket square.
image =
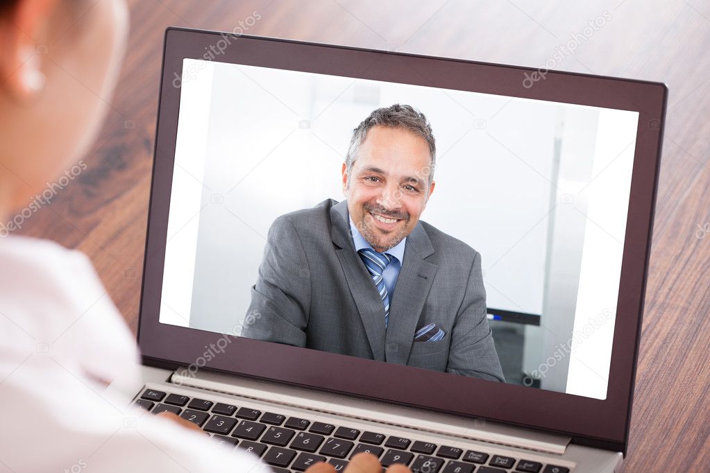
{"type": "MultiPolygon", "coordinates": [[[[385,360],[385,308],[365,265],[355,252],[350,234],[347,201],[330,208],[330,234],[335,243],[335,254],[345,273],[355,305],[362,319],[374,360],[385,360]]],[[[406,250],[405,250],[406,253],[406,250]]],[[[405,257],[406,259],[406,257],[405,257]]],[[[399,284],[399,283],[398,283],[399,284]]],[[[392,323],[390,311],[390,323],[392,323]]]]}

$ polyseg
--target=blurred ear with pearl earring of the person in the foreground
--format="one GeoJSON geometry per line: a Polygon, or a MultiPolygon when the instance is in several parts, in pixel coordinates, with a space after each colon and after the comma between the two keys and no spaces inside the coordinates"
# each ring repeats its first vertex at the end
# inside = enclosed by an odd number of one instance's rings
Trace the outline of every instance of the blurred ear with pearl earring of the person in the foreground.
{"type": "Polygon", "coordinates": [[[43,55],[58,0],[19,0],[0,17],[0,89],[27,103],[44,88],[43,55]]]}

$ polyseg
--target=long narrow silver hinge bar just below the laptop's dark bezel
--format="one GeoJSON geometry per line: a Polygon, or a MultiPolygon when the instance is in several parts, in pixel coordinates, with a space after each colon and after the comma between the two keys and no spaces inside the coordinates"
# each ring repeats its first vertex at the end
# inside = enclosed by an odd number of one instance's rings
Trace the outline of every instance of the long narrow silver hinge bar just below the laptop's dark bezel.
{"type": "Polygon", "coordinates": [[[417,408],[370,401],[340,394],[287,386],[214,372],[188,372],[178,369],[170,382],[223,394],[257,399],[282,406],[305,408],[336,416],[356,418],[424,432],[452,435],[497,445],[525,448],[537,452],[562,455],[570,438],[564,435],[513,427],[484,419],[471,419],[417,408]]]}

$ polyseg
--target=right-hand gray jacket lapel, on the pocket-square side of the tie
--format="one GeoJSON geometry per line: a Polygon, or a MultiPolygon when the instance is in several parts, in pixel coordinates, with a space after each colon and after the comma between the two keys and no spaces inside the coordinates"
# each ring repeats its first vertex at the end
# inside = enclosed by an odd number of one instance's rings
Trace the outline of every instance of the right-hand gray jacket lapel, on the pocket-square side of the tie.
{"type": "Polygon", "coordinates": [[[420,313],[439,269],[437,265],[425,261],[433,252],[429,236],[422,224],[417,223],[407,237],[404,261],[390,303],[386,343],[394,343],[399,348],[388,353],[388,362],[407,364],[420,313]]]}

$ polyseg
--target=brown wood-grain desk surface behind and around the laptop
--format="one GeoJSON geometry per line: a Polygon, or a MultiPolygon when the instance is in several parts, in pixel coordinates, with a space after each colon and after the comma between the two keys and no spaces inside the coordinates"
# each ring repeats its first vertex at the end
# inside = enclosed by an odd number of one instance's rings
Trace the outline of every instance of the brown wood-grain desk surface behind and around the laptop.
{"type": "Polygon", "coordinates": [[[28,219],[20,233],[87,252],[133,330],[166,26],[233,30],[258,13],[261,18],[245,33],[541,67],[574,33],[584,34],[589,21],[608,17],[555,68],[670,86],[630,453],[623,471],[710,469],[710,235],[696,237],[697,225],[710,221],[707,2],[129,3],[129,53],[113,108],[84,158],[88,169],[28,219]]]}

